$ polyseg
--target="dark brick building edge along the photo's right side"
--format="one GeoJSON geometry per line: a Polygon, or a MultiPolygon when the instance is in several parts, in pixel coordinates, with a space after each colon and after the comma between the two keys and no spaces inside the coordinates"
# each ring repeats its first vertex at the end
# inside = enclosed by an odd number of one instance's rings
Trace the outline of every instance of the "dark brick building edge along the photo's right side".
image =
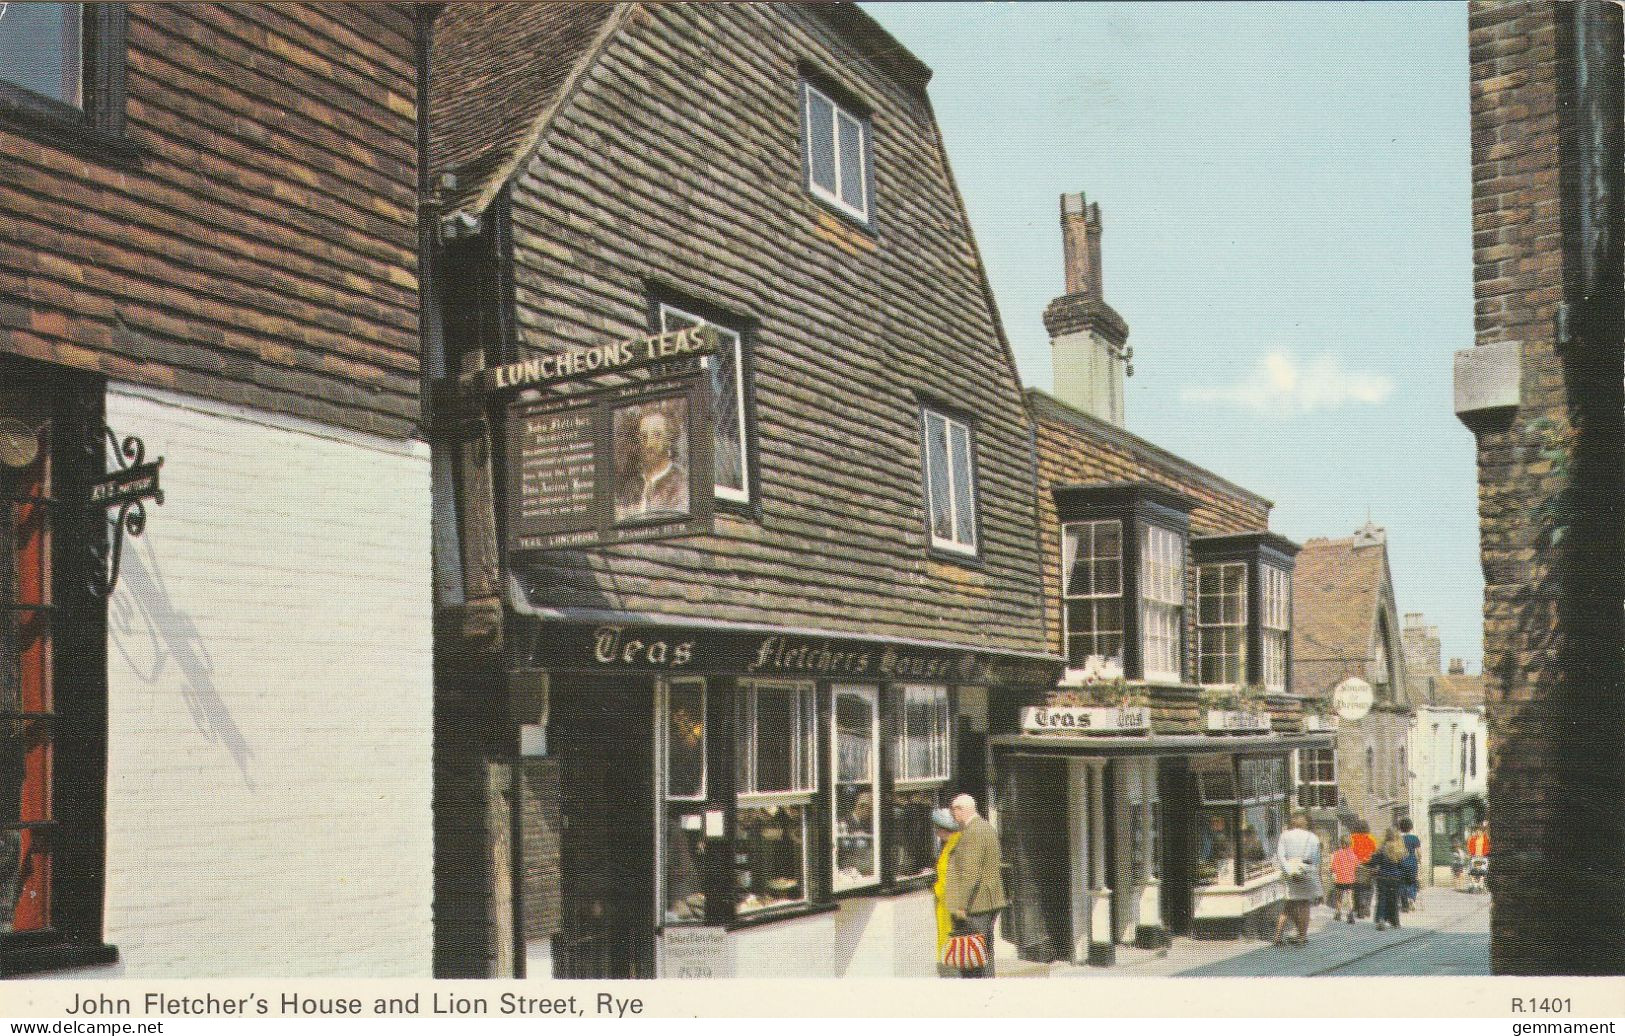
{"type": "Polygon", "coordinates": [[[1620,10],[1477,2],[1474,432],[1497,974],[1625,973],[1620,10]]]}

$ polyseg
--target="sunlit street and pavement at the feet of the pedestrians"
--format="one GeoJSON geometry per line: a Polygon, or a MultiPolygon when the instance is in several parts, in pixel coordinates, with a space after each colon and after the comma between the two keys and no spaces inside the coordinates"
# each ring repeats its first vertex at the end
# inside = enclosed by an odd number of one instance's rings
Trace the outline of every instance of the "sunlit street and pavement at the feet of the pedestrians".
{"type": "MultiPolygon", "coordinates": [[[[1118,947],[1116,965],[1032,965],[999,960],[999,978],[1124,976],[1339,976],[1488,974],[1490,896],[1450,887],[1424,888],[1419,909],[1401,927],[1378,932],[1370,921],[1334,921],[1331,908],[1310,916],[1308,943],[1277,947],[1256,939],[1175,939],[1164,950],[1118,947]]],[[[1001,947],[1001,950],[1006,947],[1001,947]]]]}

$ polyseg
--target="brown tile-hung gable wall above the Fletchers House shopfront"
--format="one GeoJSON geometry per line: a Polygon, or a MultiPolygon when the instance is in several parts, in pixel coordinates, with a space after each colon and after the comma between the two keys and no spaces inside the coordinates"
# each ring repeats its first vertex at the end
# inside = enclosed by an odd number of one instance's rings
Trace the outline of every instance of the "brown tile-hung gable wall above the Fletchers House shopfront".
{"type": "Polygon", "coordinates": [[[515,182],[514,244],[522,347],[640,335],[661,289],[754,328],[760,518],[561,554],[538,604],[1042,650],[1029,427],[930,102],[824,18],[637,8],[515,182]],[[801,62],[873,109],[873,231],[804,187],[801,62]],[[928,557],[921,399],[975,422],[973,565],[928,557]]]}

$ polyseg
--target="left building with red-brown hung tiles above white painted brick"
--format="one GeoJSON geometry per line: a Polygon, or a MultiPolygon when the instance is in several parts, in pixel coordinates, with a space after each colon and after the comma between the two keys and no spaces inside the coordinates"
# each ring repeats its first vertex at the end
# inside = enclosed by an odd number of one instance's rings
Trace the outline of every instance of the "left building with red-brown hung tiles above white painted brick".
{"type": "Polygon", "coordinates": [[[429,974],[414,37],[5,8],[0,974],[429,974]]]}

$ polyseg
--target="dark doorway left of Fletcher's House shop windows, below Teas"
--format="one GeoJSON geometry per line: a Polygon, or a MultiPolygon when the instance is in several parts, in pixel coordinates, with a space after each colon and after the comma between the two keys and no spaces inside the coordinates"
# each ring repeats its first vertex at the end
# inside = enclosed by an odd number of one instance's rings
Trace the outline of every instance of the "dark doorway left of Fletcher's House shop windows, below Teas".
{"type": "Polygon", "coordinates": [[[655,978],[653,693],[554,685],[549,747],[561,760],[561,979],[655,978]]]}

